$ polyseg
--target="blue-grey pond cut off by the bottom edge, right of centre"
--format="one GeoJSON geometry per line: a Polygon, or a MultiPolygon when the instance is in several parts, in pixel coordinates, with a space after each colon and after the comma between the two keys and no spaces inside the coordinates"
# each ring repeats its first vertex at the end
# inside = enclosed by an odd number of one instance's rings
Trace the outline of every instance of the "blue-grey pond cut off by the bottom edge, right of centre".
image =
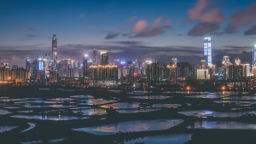
{"type": "Polygon", "coordinates": [[[125,141],[125,144],[142,143],[145,144],[183,144],[190,140],[192,134],[168,134],[168,135],[151,135],[136,140],[125,141]]]}

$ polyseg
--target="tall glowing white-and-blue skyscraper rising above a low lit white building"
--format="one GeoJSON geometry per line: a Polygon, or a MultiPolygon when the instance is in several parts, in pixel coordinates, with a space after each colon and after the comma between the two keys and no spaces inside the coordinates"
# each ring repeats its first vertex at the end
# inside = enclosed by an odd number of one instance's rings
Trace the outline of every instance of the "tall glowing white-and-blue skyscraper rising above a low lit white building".
{"type": "Polygon", "coordinates": [[[204,38],[204,57],[206,60],[206,67],[212,65],[212,42],[211,37],[204,38]]]}

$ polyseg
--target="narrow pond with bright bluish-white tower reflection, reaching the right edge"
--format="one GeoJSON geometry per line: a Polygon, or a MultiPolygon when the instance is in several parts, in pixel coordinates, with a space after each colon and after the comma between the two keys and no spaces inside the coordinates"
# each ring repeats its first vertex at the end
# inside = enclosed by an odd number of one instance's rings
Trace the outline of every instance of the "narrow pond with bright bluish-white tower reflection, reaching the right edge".
{"type": "Polygon", "coordinates": [[[183,111],[178,112],[180,114],[184,114],[186,116],[194,116],[198,118],[207,118],[207,116],[213,117],[239,117],[245,113],[256,113],[254,111],[250,112],[215,112],[215,111],[208,111],[208,110],[195,110],[195,111],[183,111]]]}

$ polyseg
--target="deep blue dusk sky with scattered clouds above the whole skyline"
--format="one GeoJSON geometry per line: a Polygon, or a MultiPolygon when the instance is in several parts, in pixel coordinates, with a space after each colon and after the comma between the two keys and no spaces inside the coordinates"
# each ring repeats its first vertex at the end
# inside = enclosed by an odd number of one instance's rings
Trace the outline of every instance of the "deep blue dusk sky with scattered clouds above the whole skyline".
{"type": "MultiPolygon", "coordinates": [[[[252,63],[255,0],[0,1],[0,62],[25,66],[27,53],[83,60],[96,44],[109,59],[200,63],[203,38],[212,37],[212,64],[224,55],[252,63]]],[[[100,56],[98,56],[100,58],[100,56]]]]}

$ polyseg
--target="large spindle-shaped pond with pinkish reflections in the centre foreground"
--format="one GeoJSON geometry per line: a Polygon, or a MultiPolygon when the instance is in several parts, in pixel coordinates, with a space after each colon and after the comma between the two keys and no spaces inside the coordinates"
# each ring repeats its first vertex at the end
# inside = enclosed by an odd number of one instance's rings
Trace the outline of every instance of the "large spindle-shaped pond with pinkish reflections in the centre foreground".
{"type": "Polygon", "coordinates": [[[134,120],[119,122],[115,124],[104,124],[88,128],[73,129],[89,132],[95,135],[110,135],[119,131],[148,131],[148,130],[166,130],[183,122],[183,119],[154,119],[154,120],[134,120]]]}

